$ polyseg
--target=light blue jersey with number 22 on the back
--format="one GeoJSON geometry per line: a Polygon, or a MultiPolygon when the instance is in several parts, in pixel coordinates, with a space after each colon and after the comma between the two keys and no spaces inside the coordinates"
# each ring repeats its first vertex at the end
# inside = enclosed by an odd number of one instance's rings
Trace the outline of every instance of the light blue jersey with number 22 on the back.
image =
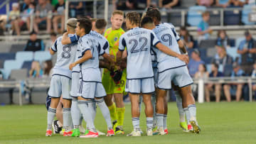
{"type": "Polygon", "coordinates": [[[119,39],[119,50],[127,47],[127,79],[154,77],[151,62],[151,46],[160,43],[153,31],[132,28],[119,39]]]}

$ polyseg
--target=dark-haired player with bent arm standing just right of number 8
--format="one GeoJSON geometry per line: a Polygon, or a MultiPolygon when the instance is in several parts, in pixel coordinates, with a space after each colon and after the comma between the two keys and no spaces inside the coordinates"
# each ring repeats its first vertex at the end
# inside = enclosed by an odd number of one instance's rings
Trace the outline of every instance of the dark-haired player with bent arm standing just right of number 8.
{"type": "Polygon", "coordinates": [[[80,50],[80,56],[78,58],[80,59],[70,64],[70,70],[72,70],[75,65],[79,64],[82,76],[79,86],[78,107],[87,123],[88,133],[80,136],[80,138],[98,137],[93,122],[93,111],[95,108],[88,104],[92,99],[96,101],[97,106],[100,107],[102,114],[105,117],[108,128],[107,136],[114,135],[110,119],[110,111],[107,109],[107,105],[103,99],[103,97],[106,96],[106,92],[100,79],[99,69],[99,55],[106,58],[108,55],[105,53],[105,50],[103,50],[104,47],[89,34],[91,28],[92,23],[90,20],[78,20],[76,34],[80,36],[80,39],[78,40],[78,50],[80,50]]]}

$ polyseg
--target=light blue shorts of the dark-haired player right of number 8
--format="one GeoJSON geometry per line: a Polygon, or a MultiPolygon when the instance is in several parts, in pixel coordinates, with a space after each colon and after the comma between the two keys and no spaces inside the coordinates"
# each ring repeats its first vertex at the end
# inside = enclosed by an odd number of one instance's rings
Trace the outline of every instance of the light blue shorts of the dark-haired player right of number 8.
{"type": "Polygon", "coordinates": [[[84,82],[80,79],[78,96],[84,99],[95,99],[107,96],[101,82],[84,82]]]}

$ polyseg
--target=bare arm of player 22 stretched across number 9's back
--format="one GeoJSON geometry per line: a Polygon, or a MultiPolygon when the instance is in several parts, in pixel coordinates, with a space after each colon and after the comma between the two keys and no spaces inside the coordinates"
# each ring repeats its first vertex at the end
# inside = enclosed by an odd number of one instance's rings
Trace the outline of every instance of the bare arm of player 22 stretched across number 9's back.
{"type": "Polygon", "coordinates": [[[180,55],[161,43],[157,43],[156,48],[161,50],[161,52],[164,52],[165,54],[171,55],[173,57],[177,57],[179,60],[182,60],[183,62],[186,62],[186,64],[188,64],[188,57],[186,55],[180,55]]]}

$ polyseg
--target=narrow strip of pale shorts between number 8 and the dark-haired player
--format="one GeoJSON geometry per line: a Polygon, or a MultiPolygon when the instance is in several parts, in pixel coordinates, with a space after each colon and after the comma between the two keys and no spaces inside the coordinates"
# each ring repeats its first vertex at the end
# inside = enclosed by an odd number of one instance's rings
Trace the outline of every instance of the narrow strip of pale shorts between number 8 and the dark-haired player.
{"type": "Polygon", "coordinates": [[[79,86],[80,72],[72,72],[72,84],[70,95],[72,97],[78,96],[78,86],[79,86]]]}

